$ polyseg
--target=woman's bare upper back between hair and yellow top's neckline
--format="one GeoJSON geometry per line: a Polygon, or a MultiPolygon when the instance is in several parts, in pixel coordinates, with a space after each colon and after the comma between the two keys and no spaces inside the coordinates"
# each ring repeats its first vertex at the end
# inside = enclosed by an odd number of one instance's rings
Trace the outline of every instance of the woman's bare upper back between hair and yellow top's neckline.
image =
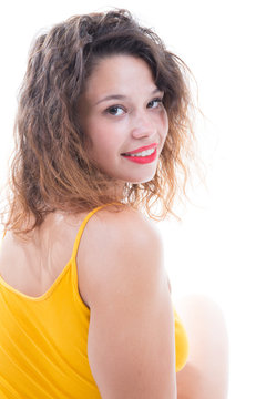
{"type": "MultiPolygon", "coordinates": [[[[52,213],[25,243],[8,232],[1,242],[0,252],[0,275],[3,280],[31,297],[45,294],[70,260],[76,233],[88,213],[52,213]]],[[[95,215],[89,224],[90,232],[96,234],[94,218],[95,215]]],[[[85,296],[80,287],[83,276],[82,264],[78,262],[78,276],[79,290],[84,300],[85,296]]],[[[89,265],[93,267],[94,264],[89,262],[86,267],[90,267],[89,265]]],[[[93,276],[93,269],[89,273],[93,276]]],[[[89,307],[89,304],[86,306],[89,307]]]]}

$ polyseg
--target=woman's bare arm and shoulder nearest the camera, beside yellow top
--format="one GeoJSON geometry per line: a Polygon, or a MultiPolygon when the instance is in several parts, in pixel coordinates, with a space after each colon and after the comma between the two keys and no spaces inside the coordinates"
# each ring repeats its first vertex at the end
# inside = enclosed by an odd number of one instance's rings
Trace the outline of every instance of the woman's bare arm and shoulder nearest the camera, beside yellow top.
{"type": "Polygon", "coordinates": [[[102,232],[90,297],[93,377],[103,399],[176,398],[174,315],[162,241],[137,214],[119,214],[112,222],[102,232]]]}

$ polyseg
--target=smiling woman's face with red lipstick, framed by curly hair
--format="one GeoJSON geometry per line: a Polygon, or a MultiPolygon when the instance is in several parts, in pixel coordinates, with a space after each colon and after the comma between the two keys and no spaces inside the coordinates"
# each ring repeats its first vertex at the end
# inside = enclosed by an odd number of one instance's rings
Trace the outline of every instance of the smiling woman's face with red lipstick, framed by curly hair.
{"type": "Polygon", "coordinates": [[[86,151],[117,183],[153,178],[168,131],[163,94],[132,55],[102,59],[89,78],[79,102],[86,151]]]}

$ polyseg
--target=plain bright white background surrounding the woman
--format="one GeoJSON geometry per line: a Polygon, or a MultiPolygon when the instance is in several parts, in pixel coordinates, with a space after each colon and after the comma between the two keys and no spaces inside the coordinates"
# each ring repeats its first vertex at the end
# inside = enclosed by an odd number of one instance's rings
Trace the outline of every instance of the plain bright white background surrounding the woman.
{"type": "MultiPolygon", "coordinates": [[[[198,84],[206,184],[191,188],[182,223],[157,224],[174,298],[204,294],[229,332],[229,399],[266,398],[265,11],[263,1],[9,1],[0,7],[0,185],[12,147],[16,98],[42,28],[73,14],[127,8],[153,27],[198,84]]],[[[218,361],[218,359],[217,359],[218,361]]],[[[215,398],[214,398],[215,399],[215,398]]]]}

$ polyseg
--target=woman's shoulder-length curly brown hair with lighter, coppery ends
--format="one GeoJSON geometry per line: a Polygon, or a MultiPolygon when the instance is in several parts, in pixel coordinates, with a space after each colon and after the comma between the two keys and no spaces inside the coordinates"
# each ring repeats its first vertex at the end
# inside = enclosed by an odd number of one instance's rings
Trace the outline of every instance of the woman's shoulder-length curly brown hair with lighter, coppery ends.
{"type": "Polygon", "coordinates": [[[167,213],[176,216],[173,203],[176,196],[186,196],[194,156],[191,71],[129,10],[113,9],[71,17],[39,35],[30,50],[14,123],[6,229],[25,234],[50,212],[79,213],[121,202],[108,194],[113,178],[89,158],[78,117],[85,81],[96,63],[112,54],[136,55],[149,64],[156,86],[165,93],[168,116],[154,177],[140,184],[125,182],[123,202],[155,221],[167,213]],[[152,213],[156,203],[161,212],[152,213]],[[32,216],[34,223],[25,227],[32,216]]]}

